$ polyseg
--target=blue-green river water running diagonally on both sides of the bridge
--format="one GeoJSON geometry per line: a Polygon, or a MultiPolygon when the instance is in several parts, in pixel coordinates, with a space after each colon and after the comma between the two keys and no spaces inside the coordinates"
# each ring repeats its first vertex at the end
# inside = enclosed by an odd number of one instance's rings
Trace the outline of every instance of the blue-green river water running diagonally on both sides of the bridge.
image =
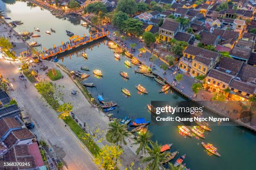
{"type": "MultiPolygon", "coordinates": [[[[80,26],[81,20],[76,17],[68,17],[66,20],[55,18],[54,15],[40,7],[28,6],[26,2],[20,1],[0,1],[2,10],[7,11],[7,16],[12,20],[22,20],[23,25],[15,28],[17,32],[34,31],[39,28],[41,37],[33,39],[38,43],[42,43],[42,47],[56,46],[68,40],[65,30],[74,32],[77,35],[89,35],[88,29],[80,26]],[[45,31],[54,28],[56,33],[46,35],[45,31]]],[[[28,42],[33,41],[28,40],[28,42]]],[[[86,82],[94,82],[97,88],[89,88],[89,92],[97,98],[97,94],[104,95],[105,101],[113,100],[118,103],[118,109],[114,110],[114,116],[121,118],[129,116],[131,118],[145,117],[151,119],[150,113],[147,111],[146,105],[151,100],[170,100],[179,101],[186,100],[176,92],[168,92],[159,94],[157,91],[161,89],[154,79],[136,74],[134,70],[137,68],[125,67],[124,61],[128,58],[121,56],[121,60],[114,58],[114,53],[106,45],[106,40],[98,41],[92,45],[84,46],[80,49],[64,54],[59,58],[59,63],[65,65],[69,70],[80,70],[81,66],[88,66],[91,70],[90,77],[86,82]],[[81,53],[85,51],[88,60],[85,60],[81,53]],[[103,73],[102,78],[95,77],[92,70],[99,69],[103,73]],[[120,71],[128,72],[130,80],[123,79],[120,71]],[[140,94],[135,86],[141,84],[146,87],[148,95],[140,94]],[[131,97],[125,97],[120,91],[121,87],[125,87],[131,92],[131,97]]],[[[40,47],[39,47],[40,49],[40,47]]],[[[149,126],[148,130],[153,133],[152,140],[157,140],[161,144],[173,143],[171,151],[179,150],[179,154],[174,158],[172,163],[184,153],[187,157],[184,163],[192,170],[242,170],[256,169],[255,153],[256,153],[256,134],[237,126],[211,127],[212,132],[205,132],[205,140],[198,138],[186,138],[179,134],[175,126],[149,126]],[[212,143],[221,157],[210,156],[200,145],[201,142],[212,143]]]]}

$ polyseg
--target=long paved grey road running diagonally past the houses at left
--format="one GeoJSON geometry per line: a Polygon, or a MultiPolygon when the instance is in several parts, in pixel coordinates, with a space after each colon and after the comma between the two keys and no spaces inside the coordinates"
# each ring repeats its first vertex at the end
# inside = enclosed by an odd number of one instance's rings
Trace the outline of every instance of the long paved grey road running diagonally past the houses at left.
{"type": "Polygon", "coordinates": [[[0,58],[0,74],[9,78],[13,84],[13,95],[16,97],[20,107],[26,107],[33,117],[36,126],[44,135],[51,148],[61,158],[69,170],[96,170],[97,165],[92,162],[87,153],[74,136],[67,130],[59,120],[54,110],[47,106],[46,102],[30,82],[25,83],[18,80],[19,62],[12,62],[0,58]],[[15,80],[13,80],[15,78],[15,80]]]}

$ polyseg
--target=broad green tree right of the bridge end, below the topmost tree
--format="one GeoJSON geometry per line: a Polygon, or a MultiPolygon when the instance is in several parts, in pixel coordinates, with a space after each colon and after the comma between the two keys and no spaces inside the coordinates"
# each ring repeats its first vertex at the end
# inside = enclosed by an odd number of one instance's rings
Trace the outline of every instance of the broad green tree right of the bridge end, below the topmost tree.
{"type": "Polygon", "coordinates": [[[128,18],[128,20],[123,21],[121,25],[121,30],[128,32],[133,35],[140,35],[143,23],[135,18],[128,18]]]}

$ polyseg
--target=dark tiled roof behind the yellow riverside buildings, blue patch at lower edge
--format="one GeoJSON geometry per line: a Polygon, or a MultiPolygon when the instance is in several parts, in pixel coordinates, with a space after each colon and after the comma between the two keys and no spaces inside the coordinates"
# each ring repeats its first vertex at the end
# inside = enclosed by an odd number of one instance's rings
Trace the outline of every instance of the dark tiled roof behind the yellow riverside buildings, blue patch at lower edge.
{"type": "Polygon", "coordinates": [[[222,72],[230,72],[232,75],[236,75],[243,66],[243,61],[235,60],[228,57],[223,57],[220,60],[219,70],[222,72]]]}

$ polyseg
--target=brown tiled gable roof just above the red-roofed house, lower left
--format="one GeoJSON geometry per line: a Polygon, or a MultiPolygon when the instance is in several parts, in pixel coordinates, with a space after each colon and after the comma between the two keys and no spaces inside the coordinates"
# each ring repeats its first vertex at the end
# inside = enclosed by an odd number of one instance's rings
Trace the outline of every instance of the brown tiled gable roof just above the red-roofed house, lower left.
{"type": "Polygon", "coordinates": [[[12,131],[3,141],[8,148],[15,145],[18,140],[33,139],[35,136],[27,128],[12,131]]]}

